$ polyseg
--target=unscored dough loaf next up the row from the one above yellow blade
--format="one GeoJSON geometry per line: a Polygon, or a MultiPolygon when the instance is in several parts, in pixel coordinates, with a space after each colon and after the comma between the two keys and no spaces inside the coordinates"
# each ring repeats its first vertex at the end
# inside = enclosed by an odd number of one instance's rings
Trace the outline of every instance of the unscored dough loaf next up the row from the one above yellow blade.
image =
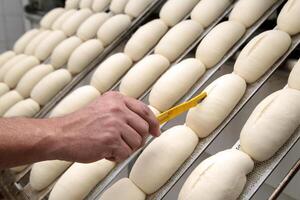
{"type": "Polygon", "coordinates": [[[215,66],[233,45],[244,35],[244,25],[235,21],[225,21],[215,26],[201,41],[196,58],[206,68],[215,66]]]}

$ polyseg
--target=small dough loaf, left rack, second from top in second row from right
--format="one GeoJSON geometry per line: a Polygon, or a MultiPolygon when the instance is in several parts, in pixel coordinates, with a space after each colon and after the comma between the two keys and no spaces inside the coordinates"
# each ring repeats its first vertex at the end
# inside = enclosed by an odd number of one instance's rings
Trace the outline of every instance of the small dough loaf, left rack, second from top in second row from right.
{"type": "Polygon", "coordinates": [[[83,41],[97,36],[98,29],[110,17],[108,13],[97,13],[85,20],[77,30],[77,36],[83,41]]]}

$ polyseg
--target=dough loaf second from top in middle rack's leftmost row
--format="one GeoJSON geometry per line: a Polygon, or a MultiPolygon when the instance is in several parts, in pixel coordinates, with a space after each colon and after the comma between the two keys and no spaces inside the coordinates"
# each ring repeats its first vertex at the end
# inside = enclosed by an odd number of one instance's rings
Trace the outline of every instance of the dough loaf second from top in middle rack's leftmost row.
{"type": "Polygon", "coordinates": [[[124,53],[133,61],[144,57],[167,32],[167,25],[160,19],[155,19],[141,26],[129,39],[124,53]]]}

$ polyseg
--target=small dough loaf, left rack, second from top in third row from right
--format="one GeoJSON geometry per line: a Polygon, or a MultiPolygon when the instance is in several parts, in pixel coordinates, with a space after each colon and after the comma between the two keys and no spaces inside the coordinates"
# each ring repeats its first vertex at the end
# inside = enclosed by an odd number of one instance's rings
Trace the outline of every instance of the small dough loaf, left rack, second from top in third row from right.
{"type": "Polygon", "coordinates": [[[84,22],[92,14],[92,11],[87,8],[76,11],[62,24],[61,30],[69,37],[74,35],[82,22],[84,22]]]}

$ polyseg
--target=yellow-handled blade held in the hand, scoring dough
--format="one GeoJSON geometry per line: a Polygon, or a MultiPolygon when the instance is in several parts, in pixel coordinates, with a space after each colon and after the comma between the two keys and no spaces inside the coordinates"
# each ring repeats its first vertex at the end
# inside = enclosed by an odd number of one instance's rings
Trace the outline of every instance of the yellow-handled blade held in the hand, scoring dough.
{"type": "Polygon", "coordinates": [[[170,121],[171,119],[184,113],[185,111],[189,110],[190,108],[195,107],[199,102],[201,102],[203,99],[205,99],[206,96],[207,96],[207,93],[202,92],[199,95],[197,95],[196,97],[192,98],[191,100],[184,102],[178,106],[171,108],[168,111],[165,111],[165,112],[159,114],[158,116],[156,116],[156,118],[160,124],[170,121]]]}

